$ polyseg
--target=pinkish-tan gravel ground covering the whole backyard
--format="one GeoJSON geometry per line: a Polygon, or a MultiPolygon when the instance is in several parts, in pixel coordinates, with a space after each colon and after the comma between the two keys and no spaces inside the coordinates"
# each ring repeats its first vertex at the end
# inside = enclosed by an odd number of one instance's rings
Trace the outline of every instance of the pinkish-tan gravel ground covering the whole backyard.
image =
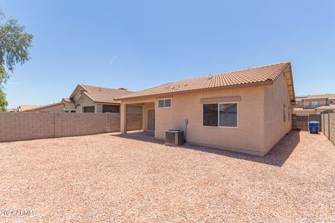
{"type": "Polygon", "coordinates": [[[17,141],[0,167],[0,222],[335,222],[335,147],[308,132],[265,157],[119,134],[17,141]]]}

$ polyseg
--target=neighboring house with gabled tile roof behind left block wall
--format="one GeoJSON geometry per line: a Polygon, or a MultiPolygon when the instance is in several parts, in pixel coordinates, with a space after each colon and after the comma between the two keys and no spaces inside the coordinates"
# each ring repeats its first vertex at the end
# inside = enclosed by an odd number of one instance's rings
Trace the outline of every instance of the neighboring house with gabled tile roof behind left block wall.
{"type": "Polygon", "coordinates": [[[69,98],[63,98],[64,112],[119,113],[120,102],[114,98],[133,93],[127,89],[109,89],[100,86],[78,84],[69,98]]]}

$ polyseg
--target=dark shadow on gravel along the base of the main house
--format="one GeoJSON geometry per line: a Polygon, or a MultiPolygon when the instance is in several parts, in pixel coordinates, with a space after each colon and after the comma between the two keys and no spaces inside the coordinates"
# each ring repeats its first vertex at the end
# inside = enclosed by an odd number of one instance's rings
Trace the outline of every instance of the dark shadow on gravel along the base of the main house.
{"type": "MultiPolygon", "coordinates": [[[[120,137],[124,139],[134,139],[138,141],[147,141],[156,144],[164,144],[163,140],[154,139],[151,135],[146,134],[138,134],[138,132],[134,133],[127,133],[127,134],[111,134],[113,137],[120,137]]],[[[196,144],[184,144],[184,146],[179,146],[181,148],[192,149],[195,151],[202,151],[206,153],[214,153],[217,155],[225,155],[227,157],[232,157],[235,159],[241,160],[248,160],[252,162],[259,162],[264,164],[269,164],[276,167],[281,167],[288,160],[292,151],[295,150],[297,144],[299,144],[300,137],[299,131],[291,131],[281,141],[271,148],[271,150],[265,156],[258,156],[258,155],[248,155],[245,153],[233,152],[233,151],[226,151],[221,148],[214,148],[208,146],[199,146],[196,144]]]]}

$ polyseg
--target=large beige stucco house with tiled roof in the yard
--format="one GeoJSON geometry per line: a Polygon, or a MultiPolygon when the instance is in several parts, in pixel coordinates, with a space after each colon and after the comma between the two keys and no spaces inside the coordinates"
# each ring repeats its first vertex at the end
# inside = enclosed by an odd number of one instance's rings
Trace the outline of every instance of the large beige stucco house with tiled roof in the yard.
{"type": "Polygon", "coordinates": [[[163,84],[124,95],[127,109],[142,106],[144,131],[165,139],[165,130],[185,131],[186,141],[253,155],[265,155],[292,127],[295,105],[290,63],[276,63],[163,84]]]}

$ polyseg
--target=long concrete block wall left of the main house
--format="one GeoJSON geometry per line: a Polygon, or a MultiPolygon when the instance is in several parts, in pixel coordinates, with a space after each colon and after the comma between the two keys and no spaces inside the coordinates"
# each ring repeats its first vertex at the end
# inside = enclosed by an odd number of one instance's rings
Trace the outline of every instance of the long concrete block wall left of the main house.
{"type": "Polygon", "coordinates": [[[0,141],[71,137],[120,131],[120,114],[0,112],[0,141]]]}

